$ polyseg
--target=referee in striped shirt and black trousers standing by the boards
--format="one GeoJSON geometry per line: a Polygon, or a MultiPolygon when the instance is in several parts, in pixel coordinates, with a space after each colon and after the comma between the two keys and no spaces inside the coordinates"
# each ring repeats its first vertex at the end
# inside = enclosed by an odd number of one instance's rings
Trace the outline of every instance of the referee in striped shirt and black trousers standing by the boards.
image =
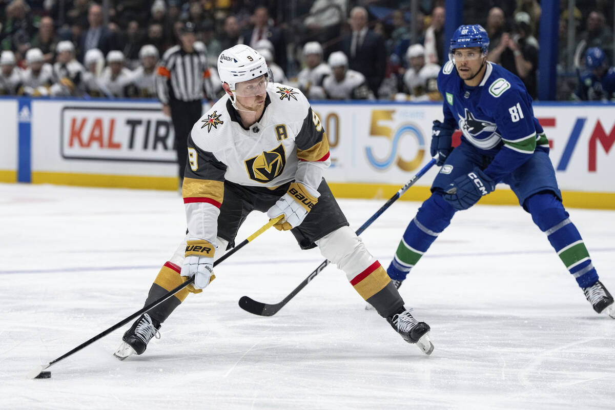
{"type": "Polygon", "coordinates": [[[180,188],[188,159],[188,136],[192,125],[202,115],[202,98],[210,89],[207,51],[195,49],[196,26],[186,22],[180,32],[180,43],[162,56],[157,69],[156,90],[162,112],[170,116],[175,128],[177,162],[180,167],[180,188]]]}

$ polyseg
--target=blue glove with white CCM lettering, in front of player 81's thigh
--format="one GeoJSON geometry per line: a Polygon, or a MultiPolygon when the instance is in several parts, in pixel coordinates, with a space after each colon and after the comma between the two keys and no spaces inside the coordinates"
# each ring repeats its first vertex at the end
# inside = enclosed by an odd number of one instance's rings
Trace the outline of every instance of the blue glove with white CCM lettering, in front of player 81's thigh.
{"type": "Polygon", "coordinates": [[[493,192],[495,188],[496,184],[493,179],[486,176],[480,168],[475,167],[472,172],[455,179],[442,197],[453,205],[453,208],[461,211],[472,207],[480,197],[493,192]]]}

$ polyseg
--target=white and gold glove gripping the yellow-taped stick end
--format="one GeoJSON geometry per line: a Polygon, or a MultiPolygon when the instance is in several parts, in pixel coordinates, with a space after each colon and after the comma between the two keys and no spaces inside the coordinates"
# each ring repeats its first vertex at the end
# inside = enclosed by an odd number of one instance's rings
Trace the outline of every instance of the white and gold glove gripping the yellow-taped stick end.
{"type": "Polygon", "coordinates": [[[274,228],[278,231],[288,231],[288,229],[300,226],[308,212],[318,202],[314,194],[319,195],[318,191],[314,192],[304,184],[296,182],[290,184],[286,194],[267,211],[269,220],[284,215],[284,218],[280,219],[274,228]]]}

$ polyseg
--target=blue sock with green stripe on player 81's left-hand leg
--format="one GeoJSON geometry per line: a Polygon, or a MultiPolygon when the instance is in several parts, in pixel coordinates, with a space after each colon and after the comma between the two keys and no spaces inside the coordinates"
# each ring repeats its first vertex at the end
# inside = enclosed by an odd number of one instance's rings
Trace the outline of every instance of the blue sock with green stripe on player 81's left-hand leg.
{"type": "Polygon", "coordinates": [[[404,280],[416,262],[429,249],[440,232],[451,223],[455,210],[439,192],[429,197],[403,233],[395,256],[387,269],[394,280],[404,280]]]}

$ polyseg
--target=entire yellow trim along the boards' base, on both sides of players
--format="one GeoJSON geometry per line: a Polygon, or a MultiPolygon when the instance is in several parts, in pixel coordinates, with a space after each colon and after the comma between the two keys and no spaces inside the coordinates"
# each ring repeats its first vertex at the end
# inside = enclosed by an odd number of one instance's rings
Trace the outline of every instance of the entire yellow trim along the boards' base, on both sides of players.
{"type": "MultiPolygon", "coordinates": [[[[0,171],[1,182],[17,181],[16,171],[0,171]],[[6,179],[4,179],[6,178],[6,179]]],[[[178,178],[167,176],[130,176],[130,175],[102,175],[81,174],[65,172],[41,172],[32,173],[34,184],[58,184],[75,186],[117,187],[117,188],[140,188],[140,189],[164,189],[176,191],[178,178]]],[[[352,183],[329,183],[333,195],[338,198],[358,199],[384,199],[391,198],[400,188],[393,184],[352,184],[352,183]]],[[[402,195],[401,200],[420,201],[426,200],[431,192],[428,186],[413,186],[402,195]]],[[[563,191],[564,205],[568,208],[588,208],[615,210],[615,192],[583,192],[563,191]]],[[[485,205],[518,205],[517,197],[510,189],[496,189],[491,194],[483,197],[479,204],[485,205]]]]}

